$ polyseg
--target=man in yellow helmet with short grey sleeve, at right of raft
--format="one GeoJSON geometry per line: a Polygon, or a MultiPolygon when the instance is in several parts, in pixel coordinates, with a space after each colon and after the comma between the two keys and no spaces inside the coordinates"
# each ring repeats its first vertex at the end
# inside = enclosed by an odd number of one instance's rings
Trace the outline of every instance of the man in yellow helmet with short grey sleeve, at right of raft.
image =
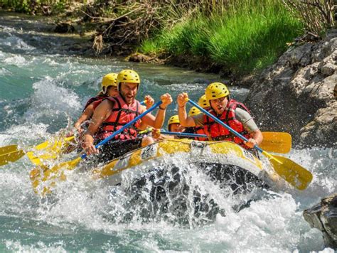
{"type": "Polygon", "coordinates": [[[237,136],[234,136],[228,129],[215,122],[205,114],[188,117],[186,114],[186,100],[188,95],[181,93],[178,95],[178,115],[182,126],[203,126],[205,134],[214,141],[226,140],[240,144],[245,149],[252,149],[262,142],[262,133],[255,124],[249,110],[244,104],[230,99],[230,92],[226,85],[221,82],[214,82],[208,85],[205,90],[205,98],[209,100],[210,107],[207,109],[210,114],[220,119],[235,131],[245,136],[247,143],[237,136]]]}

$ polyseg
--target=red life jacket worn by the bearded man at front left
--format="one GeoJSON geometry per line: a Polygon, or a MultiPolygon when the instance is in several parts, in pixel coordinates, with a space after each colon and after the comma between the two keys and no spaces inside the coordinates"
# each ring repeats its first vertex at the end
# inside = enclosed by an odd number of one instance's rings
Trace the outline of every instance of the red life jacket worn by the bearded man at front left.
{"type": "MultiPolygon", "coordinates": [[[[124,125],[131,122],[135,117],[141,114],[141,104],[134,99],[132,104],[127,104],[124,99],[118,95],[117,97],[107,97],[110,101],[114,102],[112,112],[107,119],[102,123],[100,129],[97,131],[96,137],[98,139],[105,139],[110,136],[114,131],[118,131],[124,125]]],[[[115,140],[129,140],[137,137],[137,126],[139,126],[140,120],[124,129],[122,133],[114,136],[115,140]]]]}

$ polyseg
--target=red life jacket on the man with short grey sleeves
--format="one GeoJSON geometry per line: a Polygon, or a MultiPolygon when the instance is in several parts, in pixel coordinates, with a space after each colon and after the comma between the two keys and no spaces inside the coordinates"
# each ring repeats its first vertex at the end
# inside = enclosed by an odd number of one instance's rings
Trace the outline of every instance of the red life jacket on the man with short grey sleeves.
{"type": "MultiPolygon", "coordinates": [[[[245,130],[243,124],[235,118],[235,109],[237,107],[244,109],[245,111],[250,113],[249,109],[247,109],[247,107],[245,107],[244,104],[237,102],[234,99],[230,99],[225,110],[223,111],[223,114],[221,114],[220,117],[211,108],[208,109],[208,112],[210,112],[210,114],[213,114],[215,117],[217,117],[223,123],[230,126],[232,129],[237,131],[242,136],[245,136],[247,139],[250,139],[252,138],[252,136],[250,136],[248,131],[245,130]]],[[[221,126],[210,117],[203,115],[203,123],[204,123],[203,129],[205,131],[205,134],[211,136],[213,141],[232,141],[235,142],[236,144],[240,144],[240,146],[244,147],[245,149],[250,149],[243,143],[242,139],[232,134],[228,129],[226,129],[224,126],[221,126]]]]}

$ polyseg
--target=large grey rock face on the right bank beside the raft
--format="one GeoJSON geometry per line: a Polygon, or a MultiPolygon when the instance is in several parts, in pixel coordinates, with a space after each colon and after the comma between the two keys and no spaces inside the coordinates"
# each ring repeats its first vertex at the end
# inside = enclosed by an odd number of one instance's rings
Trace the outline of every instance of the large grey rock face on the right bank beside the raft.
{"type": "Polygon", "coordinates": [[[245,103],[264,131],[287,131],[301,146],[337,145],[337,29],[290,48],[262,72],[245,103]]]}

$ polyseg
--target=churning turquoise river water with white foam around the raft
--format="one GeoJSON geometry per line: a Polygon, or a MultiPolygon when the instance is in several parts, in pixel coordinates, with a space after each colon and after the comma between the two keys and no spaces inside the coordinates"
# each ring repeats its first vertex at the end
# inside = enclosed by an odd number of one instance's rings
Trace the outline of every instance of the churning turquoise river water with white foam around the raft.
{"type": "MultiPolygon", "coordinates": [[[[1,20],[1,19],[0,19],[1,20]]],[[[161,65],[132,64],[121,59],[83,58],[58,50],[67,38],[22,31],[16,23],[0,22],[0,146],[18,144],[23,149],[39,144],[56,131],[73,124],[87,99],[99,91],[102,75],[132,68],[141,76],[138,99],[173,99],[188,92],[198,99],[207,75],[161,65]]],[[[230,87],[243,100],[247,90],[230,87]]],[[[174,102],[167,117],[176,112],[174,102]]],[[[31,187],[33,168],[23,157],[0,169],[0,252],[299,252],[324,249],[321,232],[311,229],[301,213],[320,198],[336,193],[334,149],[292,150],[287,157],[314,174],[303,192],[272,187],[240,212],[232,206],[252,195],[224,192],[197,173],[183,156],[166,163],[185,170],[186,184],[198,187],[205,203],[213,198],[226,215],[207,220],[193,206],[191,190],[180,195],[186,204],[185,222],[172,210],[166,217],[152,212],[144,219],[141,208],[154,210],[144,195],[139,202],[121,187],[91,181],[86,173],[73,173],[50,198],[41,198],[31,187]],[[152,209],[151,209],[152,208],[152,209]],[[133,217],[125,220],[126,214],[133,217]],[[205,222],[207,220],[207,222],[205,222]]],[[[147,166],[151,166],[147,165],[147,166]]],[[[152,166],[155,166],[152,164],[152,166]]],[[[161,166],[161,165],[156,165],[161,166]]],[[[139,166],[141,167],[141,166],[139,166]]],[[[131,178],[127,174],[125,180],[131,178]]],[[[174,203],[176,200],[172,200],[174,203]]]]}

